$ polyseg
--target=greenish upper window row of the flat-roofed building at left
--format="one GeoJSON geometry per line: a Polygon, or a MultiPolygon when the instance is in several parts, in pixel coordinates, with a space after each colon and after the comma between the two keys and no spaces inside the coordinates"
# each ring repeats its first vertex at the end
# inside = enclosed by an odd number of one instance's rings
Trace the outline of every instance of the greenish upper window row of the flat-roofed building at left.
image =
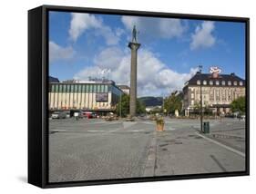
{"type": "Polygon", "coordinates": [[[50,84],[49,92],[108,92],[107,84],[50,84]]]}

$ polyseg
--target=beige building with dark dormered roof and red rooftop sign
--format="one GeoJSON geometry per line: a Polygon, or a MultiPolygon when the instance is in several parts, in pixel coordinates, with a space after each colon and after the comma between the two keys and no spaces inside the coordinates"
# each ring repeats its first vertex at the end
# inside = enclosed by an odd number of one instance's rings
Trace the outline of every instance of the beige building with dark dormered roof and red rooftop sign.
{"type": "Polygon", "coordinates": [[[196,73],[183,88],[183,110],[185,115],[200,108],[200,87],[202,107],[217,115],[230,112],[230,103],[245,96],[245,81],[235,73],[196,73]]]}

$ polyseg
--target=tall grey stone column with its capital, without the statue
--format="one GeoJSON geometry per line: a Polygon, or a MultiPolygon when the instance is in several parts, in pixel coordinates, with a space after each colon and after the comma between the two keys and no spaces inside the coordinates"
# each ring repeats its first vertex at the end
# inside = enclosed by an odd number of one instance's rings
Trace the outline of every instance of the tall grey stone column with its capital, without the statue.
{"type": "MultiPolygon", "coordinates": [[[[136,40],[136,39],[135,39],[136,40]]],[[[128,47],[131,50],[130,63],[130,100],[129,100],[129,114],[136,116],[136,101],[137,101],[137,51],[140,44],[136,41],[130,42],[128,47]]]]}

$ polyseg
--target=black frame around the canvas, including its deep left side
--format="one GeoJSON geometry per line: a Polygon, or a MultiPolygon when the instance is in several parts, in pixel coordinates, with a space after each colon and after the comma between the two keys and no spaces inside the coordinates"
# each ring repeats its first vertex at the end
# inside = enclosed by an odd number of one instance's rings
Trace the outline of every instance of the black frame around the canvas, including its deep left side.
{"type": "Polygon", "coordinates": [[[186,15],[131,10],[84,8],[72,6],[42,5],[28,11],[28,183],[40,188],[103,185],[116,183],[147,182],[172,179],[206,179],[244,176],[250,174],[250,19],[217,15],[186,15]],[[175,175],[131,179],[106,179],[49,183],[48,175],[48,13],[78,12],[108,15],[137,15],[241,22],[246,25],[246,165],[244,171],[175,175]]]}

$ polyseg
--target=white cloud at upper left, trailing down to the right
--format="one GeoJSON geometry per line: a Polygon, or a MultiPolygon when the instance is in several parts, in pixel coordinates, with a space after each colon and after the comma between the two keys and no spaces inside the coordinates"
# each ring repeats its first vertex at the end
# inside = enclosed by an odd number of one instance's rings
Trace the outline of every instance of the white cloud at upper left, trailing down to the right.
{"type": "Polygon", "coordinates": [[[118,44],[118,35],[116,35],[108,25],[103,24],[102,20],[95,15],[72,13],[71,17],[68,33],[71,40],[74,42],[76,42],[78,37],[87,30],[94,29],[94,34],[103,36],[106,40],[106,44],[118,44]]]}

